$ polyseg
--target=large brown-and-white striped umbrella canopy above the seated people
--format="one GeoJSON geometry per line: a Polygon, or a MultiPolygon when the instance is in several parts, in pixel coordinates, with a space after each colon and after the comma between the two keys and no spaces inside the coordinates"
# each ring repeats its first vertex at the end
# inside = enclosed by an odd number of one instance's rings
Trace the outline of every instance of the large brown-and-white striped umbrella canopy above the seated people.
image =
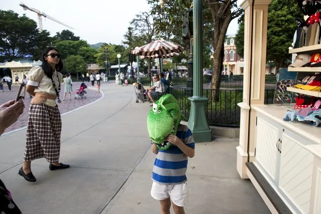
{"type": "MultiPolygon", "coordinates": [[[[138,49],[132,50],[132,54],[140,56],[167,55],[170,53],[180,53],[183,47],[164,40],[155,40],[138,49]]],[[[158,58],[158,57],[156,57],[158,58]]]]}

